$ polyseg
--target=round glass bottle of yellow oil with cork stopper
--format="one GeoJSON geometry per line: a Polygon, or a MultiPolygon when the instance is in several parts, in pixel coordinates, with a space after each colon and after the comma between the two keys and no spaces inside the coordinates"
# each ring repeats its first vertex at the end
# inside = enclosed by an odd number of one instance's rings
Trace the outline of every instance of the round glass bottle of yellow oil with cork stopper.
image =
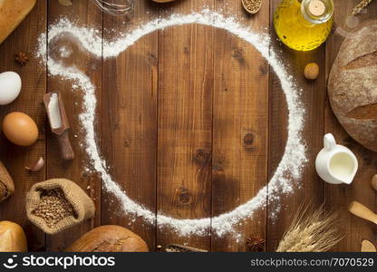
{"type": "Polygon", "coordinates": [[[333,0],[283,0],[274,15],[275,32],[288,47],[308,51],[327,39],[333,26],[333,0]]]}

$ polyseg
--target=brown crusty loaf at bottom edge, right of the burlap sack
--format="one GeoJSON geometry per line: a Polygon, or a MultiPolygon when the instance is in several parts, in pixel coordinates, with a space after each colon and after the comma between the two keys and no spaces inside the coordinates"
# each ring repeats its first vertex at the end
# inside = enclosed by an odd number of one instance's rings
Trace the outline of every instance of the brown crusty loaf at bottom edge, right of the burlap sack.
{"type": "Polygon", "coordinates": [[[108,225],[93,228],[79,238],[69,252],[148,252],[148,246],[140,236],[128,228],[108,225]]]}

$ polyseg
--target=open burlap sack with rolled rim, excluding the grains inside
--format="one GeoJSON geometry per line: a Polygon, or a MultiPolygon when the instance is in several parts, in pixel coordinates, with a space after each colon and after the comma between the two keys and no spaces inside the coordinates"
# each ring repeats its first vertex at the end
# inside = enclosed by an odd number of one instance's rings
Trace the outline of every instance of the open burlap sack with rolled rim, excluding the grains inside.
{"type": "Polygon", "coordinates": [[[94,211],[92,199],[71,180],[53,179],[39,182],[34,184],[26,194],[27,218],[47,234],[56,234],[65,228],[71,228],[81,223],[85,219],[91,219],[94,216],[94,211]],[[35,216],[32,212],[38,208],[43,190],[59,188],[63,190],[65,199],[72,204],[75,215],[66,217],[57,222],[53,228],[49,228],[44,219],[35,216]]]}

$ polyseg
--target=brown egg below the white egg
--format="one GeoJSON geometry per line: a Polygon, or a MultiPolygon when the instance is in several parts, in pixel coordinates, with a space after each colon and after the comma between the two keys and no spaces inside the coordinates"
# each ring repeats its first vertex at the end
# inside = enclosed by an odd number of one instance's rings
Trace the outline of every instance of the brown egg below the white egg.
{"type": "Polygon", "coordinates": [[[35,121],[23,112],[11,112],[3,121],[5,137],[14,144],[29,146],[38,138],[38,128],[35,121]]]}

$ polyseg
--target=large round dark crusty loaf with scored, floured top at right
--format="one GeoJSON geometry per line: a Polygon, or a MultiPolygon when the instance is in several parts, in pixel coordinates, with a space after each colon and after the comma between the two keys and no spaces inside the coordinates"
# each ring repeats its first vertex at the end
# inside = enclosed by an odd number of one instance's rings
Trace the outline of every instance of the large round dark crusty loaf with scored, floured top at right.
{"type": "Polygon", "coordinates": [[[329,76],[328,94],[343,128],[377,151],[377,21],[345,38],[329,76]]]}

